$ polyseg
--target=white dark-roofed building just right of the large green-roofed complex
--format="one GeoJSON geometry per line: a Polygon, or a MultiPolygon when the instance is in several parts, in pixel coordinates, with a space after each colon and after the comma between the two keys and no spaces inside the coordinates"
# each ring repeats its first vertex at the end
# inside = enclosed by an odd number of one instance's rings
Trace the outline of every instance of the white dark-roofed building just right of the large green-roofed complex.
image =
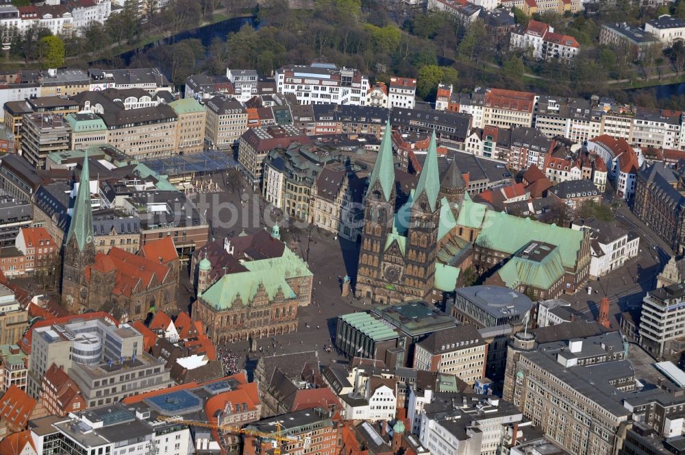
{"type": "Polygon", "coordinates": [[[590,278],[599,278],[622,267],[638,255],[640,237],[598,219],[574,221],[573,230],[590,232],[590,278]]]}

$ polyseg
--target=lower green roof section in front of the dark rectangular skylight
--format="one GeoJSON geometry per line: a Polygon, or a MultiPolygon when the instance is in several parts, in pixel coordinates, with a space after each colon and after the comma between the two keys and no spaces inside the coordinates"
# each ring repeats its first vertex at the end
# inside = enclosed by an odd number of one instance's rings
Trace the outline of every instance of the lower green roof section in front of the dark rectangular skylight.
{"type": "MultiPolygon", "coordinates": [[[[540,245],[540,248],[549,251],[546,245],[540,245]]],[[[549,289],[564,276],[564,265],[559,248],[553,247],[540,262],[514,256],[497,273],[504,284],[512,289],[516,289],[521,284],[538,289],[549,289]]]]}

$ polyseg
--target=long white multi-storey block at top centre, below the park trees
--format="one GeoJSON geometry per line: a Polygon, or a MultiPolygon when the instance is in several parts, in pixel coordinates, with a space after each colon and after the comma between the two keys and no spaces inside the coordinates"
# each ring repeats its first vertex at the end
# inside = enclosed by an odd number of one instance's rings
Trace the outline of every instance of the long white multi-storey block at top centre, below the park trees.
{"type": "Polygon", "coordinates": [[[334,64],[288,65],[275,71],[279,93],[292,93],[300,104],[366,105],[369,78],[351,68],[334,64]]]}

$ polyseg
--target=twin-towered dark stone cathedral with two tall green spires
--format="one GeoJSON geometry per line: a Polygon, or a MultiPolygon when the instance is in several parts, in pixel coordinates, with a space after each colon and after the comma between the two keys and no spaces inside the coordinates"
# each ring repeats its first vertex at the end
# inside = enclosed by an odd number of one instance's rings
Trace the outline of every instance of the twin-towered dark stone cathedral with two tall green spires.
{"type": "Polygon", "coordinates": [[[456,262],[468,247],[458,235],[458,211],[470,199],[454,161],[439,173],[433,132],[416,189],[396,210],[391,134],[388,122],[366,192],[356,296],[382,304],[435,302],[436,294],[456,287],[456,262]]]}

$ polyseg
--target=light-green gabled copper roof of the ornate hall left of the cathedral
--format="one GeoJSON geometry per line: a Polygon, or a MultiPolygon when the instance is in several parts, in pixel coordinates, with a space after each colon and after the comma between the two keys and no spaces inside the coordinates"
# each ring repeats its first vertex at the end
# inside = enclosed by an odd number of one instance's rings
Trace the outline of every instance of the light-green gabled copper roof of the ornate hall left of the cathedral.
{"type": "Polygon", "coordinates": [[[229,273],[219,278],[202,294],[202,299],[219,310],[231,308],[236,297],[240,296],[242,303],[248,305],[256,295],[260,285],[272,300],[282,292],[286,299],[294,299],[295,292],[286,282],[290,277],[312,276],[306,263],[288,247],[283,250],[280,258],[252,260],[243,262],[245,272],[229,273]]]}

